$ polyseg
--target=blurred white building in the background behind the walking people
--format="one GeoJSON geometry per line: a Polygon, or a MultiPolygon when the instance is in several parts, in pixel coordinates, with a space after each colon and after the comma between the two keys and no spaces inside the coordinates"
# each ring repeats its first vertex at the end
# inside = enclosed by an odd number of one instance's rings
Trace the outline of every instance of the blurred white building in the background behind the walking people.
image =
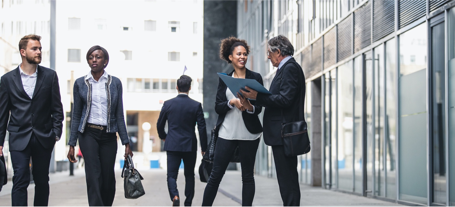
{"type": "MultiPolygon", "coordinates": [[[[131,149],[138,152],[137,162],[142,163],[143,158],[150,168],[150,154],[162,151],[158,115],[163,102],[177,96],[177,79],[183,73],[193,79],[189,96],[202,102],[202,18],[201,0],[1,1],[0,75],[21,63],[20,38],[37,34],[42,36],[40,65],[56,70],[59,76],[66,118],[62,140],[54,150],[57,167],[51,166],[53,171],[69,166],[72,87],[77,78],[90,72],[86,53],[94,45],[109,52],[106,72],[123,85],[131,149]]],[[[119,144],[118,164],[123,150],[119,144]]],[[[7,141],[4,152],[7,155],[7,141]]],[[[158,155],[152,159],[158,162],[162,153],[158,155]]],[[[12,174],[10,166],[9,176],[12,174]]]]}

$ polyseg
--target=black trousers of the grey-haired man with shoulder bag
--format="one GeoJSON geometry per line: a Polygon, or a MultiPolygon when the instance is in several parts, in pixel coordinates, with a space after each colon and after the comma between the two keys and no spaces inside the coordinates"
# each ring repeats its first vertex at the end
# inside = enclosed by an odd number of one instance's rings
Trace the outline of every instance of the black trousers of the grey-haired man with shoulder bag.
{"type": "Polygon", "coordinates": [[[297,156],[284,155],[283,145],[272,146],[272,152],[283,206],[300,206],[297,156]]]}

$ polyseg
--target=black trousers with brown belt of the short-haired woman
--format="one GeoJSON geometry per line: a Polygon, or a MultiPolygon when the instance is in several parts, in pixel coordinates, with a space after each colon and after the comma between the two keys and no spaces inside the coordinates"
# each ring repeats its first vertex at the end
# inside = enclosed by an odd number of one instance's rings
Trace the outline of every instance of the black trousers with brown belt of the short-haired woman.
{"type": "Polygon", "coordinates": [[[115,197],[114,165],[116,133],[86,127],[79,132],[79,147],[84,156],[89,206],[112,206],[115,197]]]}

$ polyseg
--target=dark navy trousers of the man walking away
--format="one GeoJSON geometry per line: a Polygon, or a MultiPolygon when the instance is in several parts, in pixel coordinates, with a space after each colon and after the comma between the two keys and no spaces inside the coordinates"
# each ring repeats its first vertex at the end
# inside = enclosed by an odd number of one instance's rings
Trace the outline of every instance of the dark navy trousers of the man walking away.
{"type": "Polygon", "coordinates": [[[191,206],[194,197],[194,167],[197,152],[166,151],[167,154],[167,188],[171,200],[179,196],[177,190],[178,168],[183,160],[185,174],[185,206],[191,206]]]}

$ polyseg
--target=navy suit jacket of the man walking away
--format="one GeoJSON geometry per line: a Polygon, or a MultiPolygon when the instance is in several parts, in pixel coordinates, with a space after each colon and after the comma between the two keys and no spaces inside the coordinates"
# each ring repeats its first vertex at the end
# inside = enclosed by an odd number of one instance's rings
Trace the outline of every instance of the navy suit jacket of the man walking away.
{"type": "Polygon", "coordinates": [[[205,152],[207,149],[207,130],[202,104],[192,100],[185,94],[179,94],[173,99],[164,101],[157,122],[160,139],[166,139],[164,150],[181,152],[197,151],[197,138],[194,131],[196,123],[201,149],[202,152],[205,152]],[[166,121],[167,134],[164,131],[166,121]]]}

